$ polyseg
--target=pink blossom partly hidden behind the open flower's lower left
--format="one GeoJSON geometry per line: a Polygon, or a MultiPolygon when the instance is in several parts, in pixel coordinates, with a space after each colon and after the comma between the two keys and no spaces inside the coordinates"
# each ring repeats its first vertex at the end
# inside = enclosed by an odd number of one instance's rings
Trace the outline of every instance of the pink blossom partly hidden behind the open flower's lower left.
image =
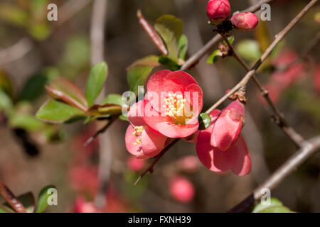
{"type": "Polygon", "coordinates": [[[143,101],[139,101],[130,108],[128,119],[131,125],[128,126],[125,135],[127,150],[139,159],[158,155],[164,148],[167,139],[166,136],[145,125],[141,114],[139,114],[143,113],[142,104],[143,101]]]}

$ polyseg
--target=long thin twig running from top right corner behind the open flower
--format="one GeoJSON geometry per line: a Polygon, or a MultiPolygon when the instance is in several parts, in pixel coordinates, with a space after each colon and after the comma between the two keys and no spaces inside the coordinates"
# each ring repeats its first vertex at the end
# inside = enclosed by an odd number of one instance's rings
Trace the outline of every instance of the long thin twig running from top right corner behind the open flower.
{"type": "MultiPolygon", "coordinates": [[[[236,84],[235,87],[233,87],[233,89],[230,90],[230,92],[228,92],[228,94],[225,94],[221,99],[219,99],[215,104],[213,104],[213,106],[211,106],[210,109],[208,109],[206,111],[207,114],[210,114],[211,111],[213,111],[218,106],[220,106],[220,104],[222,104],[223,101],[228,99],[229,96],[231,96],[232,94],[237,92],[238,89],[240,89],[241,87],[244,87],[247,84],[247,82],[249,82],[250,78],[255,74],[255,72],[257,72],[257,69],[260,67],[262,62],[264,62],[267,59],[267,57],[270,55],[272,50],[274,50],[274,48],[277,46],[277,44],[284,38],[285,35],[287,35],[287,33],[289,33],[289,31],[293,28],[294,25],[297,24],[297,22],[302,18],[302,16],[304,16],[304,14],[306,14],[306,12],[309,11],[309,9],[311,9],[311,7],[314,6],[314,4],[316,4],[317,1],[318,0],[310,1],[309,4],[306,5],[304,7],[304,9],[302,9],[302,11],[282,31],[280,31],[277,35],[275,35],[274,41],[267,48],[267,50],[265,50],[265,52],[262,54],[260,59],[255,63],[255,65],[251,68],[251,70],[249,72],[247,72],[247,74],[245,74],[245,77],[243,77],[241,79],[241,81],[238,82],[238,84],[236,84]]],[[[179,139],[175,139],[171,143],[176,143],[178,140],[179,139]]],[[[169,144],[169,145],[171,145],[171,144],[169,144]]],[[[164,150],[162,150],[162,152],[159,154],[160,157],[162,157],[164,155],[164,153],[166,153],[167,149],[169,149],[167,147],[164,148],[164,150]]],[[[143,175],[139,177],[139,179],[141,179],[146,174],[146,172],[149,172],[149,170],[153,170],[154,165],[156,165],[156,162],[158,162],[160,160],[160,157],[156,158],[156,160],[154,160],[154,162],[152,162],[151,168],[148,167],[146,169],[146,171],[144,171],[143,175]]],[[[137,182],[139,182],[139,181],[137,181],[137,182]]]]}

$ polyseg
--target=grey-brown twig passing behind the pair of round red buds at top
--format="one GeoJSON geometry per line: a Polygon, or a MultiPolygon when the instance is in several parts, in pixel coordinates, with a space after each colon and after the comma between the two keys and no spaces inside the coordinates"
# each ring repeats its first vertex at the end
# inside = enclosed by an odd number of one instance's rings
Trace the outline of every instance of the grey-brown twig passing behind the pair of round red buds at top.
{"type": "MultiPolygon", "coordinates": [[[[258,11],[261,8],[262,4],[266,4],[271,1],[273,1],[273,0],[259,1],[254,6],[250,6],[249,8],[247,8],[243,11],[249,11],[249,12],[258,11]]],[[[197,62],[201,59],[201,57],[206,55],[206,53],[209,52],[211,50],[211,48],[213,48],[215,46],[215,44],[217,44],[220,40],[221,40],[221,36],[215,35],[211,40],[209,40],[209,42],[206,45],[203,46],[203,48],[198,50],[198,52],[196,52],[192,57],[189,57],[188,60],[186,60],[186,62],[181,66],[181,70],[188,70],[191,67],[193,67],[194,65],[196,65],[197,62]]]]}

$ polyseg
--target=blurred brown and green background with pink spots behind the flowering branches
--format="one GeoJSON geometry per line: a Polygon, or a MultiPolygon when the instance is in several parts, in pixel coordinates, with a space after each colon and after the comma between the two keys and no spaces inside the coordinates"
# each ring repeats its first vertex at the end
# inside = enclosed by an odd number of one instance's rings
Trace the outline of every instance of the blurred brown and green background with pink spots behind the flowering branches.
{"type": "MultiPolygon", "coordinates": [[[[234,45],[248,64],[260,57],[261,43],[268,42],[268,38],[272,40],[308,2],[273,1],[271,21],[260,25],[264,28],[249,33],[233,31],[234,45]]],[[[230,0],[233,12],[252,3],[255,1],[230,0]]],[[[181,18],[183,33],[188,37],[188,59],[215,35],[207,23],[206,4],[206,0],[107,0],[106,94],[128,90],[126,68],[132,62],[160,54],[139,26],[137,9],[142,10],[151,24],[164,14],[181,18]]],[[[320,133],[319,45],[303,60],[291,62],[319,32],[319,9],[317,4],[302,18],[258,74],[289,124],[304,138],[320,133]],[[277,80],[277,74],[282,75],[284,84],[277,80]]],[[[46,185],[54,184],[58,189],[58,206],[50,206],[49,212],[224,212],[250,194],[294,153],[295,146],[272,122],[257,88],[250,82],[242,130],[252,157],[250,175],[210,172],[199,164],[195,145],[180,141],[161,158],[152,175],[146,175],[134,186],[139,173],[152,160],[132,160],[124,145],[128,123],[116,121],[100,138],[107,141],[107,148],[102,149],[112,154],[107,188],[101,189],[98,177],[101,146],[96,139],[87,148],[82,147],[100,125],[82,122],[54,125],[34,117],[48,99],[44,87],[50,79],[66,77],[85,90],[90,71],[91,18],[89,0],[0,1],[0,87],[13,106],[10,116],[6,116],[6,99],[0,96],[0,179],[14,194],[36,195],[46,185]],[[49,3],[58,5],[58,21],[47,20],[49,3]],[[106,201],[102,206],[97,201],[101,190],[104,196],[99,199],[106,201]]],[[[245,70],[231,57],[208,65],[207,58],[213,50],[196,67],[187,70],[203,89],[204,109],[245,75],[245,70]]],[[[319,160],[318,154],[299,167],[272,191],[272,197],[293,211],[320,212],[319,160]]]]}

